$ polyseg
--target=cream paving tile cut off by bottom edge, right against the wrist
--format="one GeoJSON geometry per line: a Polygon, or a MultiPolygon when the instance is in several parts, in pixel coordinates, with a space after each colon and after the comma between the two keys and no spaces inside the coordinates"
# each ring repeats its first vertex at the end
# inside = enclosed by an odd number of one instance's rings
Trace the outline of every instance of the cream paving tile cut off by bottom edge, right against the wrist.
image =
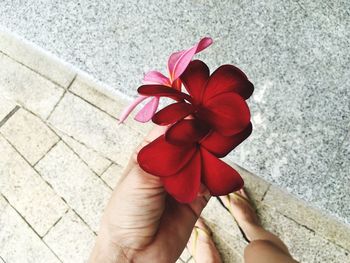
{"type": "Polygon", "coordinates": [[[44,241],[62,262],[79,263],[87,262],[95,242],[95,235],[74,211],[69,210],[50,229],[44,241]]]}

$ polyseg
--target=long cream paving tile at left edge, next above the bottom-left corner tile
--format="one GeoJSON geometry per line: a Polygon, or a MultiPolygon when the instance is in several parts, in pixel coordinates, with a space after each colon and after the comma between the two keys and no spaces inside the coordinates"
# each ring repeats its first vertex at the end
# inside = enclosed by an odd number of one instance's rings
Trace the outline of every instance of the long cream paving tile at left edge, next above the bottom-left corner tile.
{"type": "Polygon", "coordinates": [[[67,210],[66,204],[1,136],[0,152],[1,193],[43,236],[67,210]]]}

